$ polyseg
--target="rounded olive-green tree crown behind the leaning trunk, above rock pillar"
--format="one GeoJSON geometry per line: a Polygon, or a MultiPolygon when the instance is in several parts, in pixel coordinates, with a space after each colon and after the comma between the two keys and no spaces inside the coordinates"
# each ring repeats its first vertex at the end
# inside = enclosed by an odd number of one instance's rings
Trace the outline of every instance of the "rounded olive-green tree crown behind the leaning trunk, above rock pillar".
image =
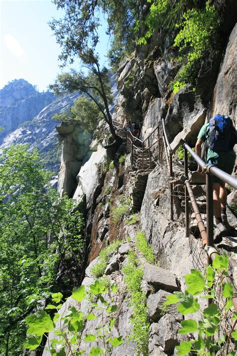
{"type": "Polygon", "coordinates": [[[103,118],[103,115],[94,101],[88,99],[86,96],[80,96],[74,101],[74,105],[69,109],[68,113],[63,111],[60,114],[54,114],[52,118],[64,122],[76,120],[86,130],[93,132],[96,129],[97,123],[103,118]]]}

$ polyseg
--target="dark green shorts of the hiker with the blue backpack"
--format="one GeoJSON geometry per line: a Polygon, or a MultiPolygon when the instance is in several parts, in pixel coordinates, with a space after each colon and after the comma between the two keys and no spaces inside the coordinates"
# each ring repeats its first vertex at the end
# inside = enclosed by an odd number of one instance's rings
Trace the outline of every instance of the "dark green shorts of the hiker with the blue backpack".
{"type": "MultiPolygon", "coordinates": [[[[208,159],[206,164],[214,164],[224,172],[231,174],[233,171],[236,155],[233,151],[218,152],[218,156],[208,159]]],[[[213,183],[224,184],[218,177],[213,175],[213,183]]]]}

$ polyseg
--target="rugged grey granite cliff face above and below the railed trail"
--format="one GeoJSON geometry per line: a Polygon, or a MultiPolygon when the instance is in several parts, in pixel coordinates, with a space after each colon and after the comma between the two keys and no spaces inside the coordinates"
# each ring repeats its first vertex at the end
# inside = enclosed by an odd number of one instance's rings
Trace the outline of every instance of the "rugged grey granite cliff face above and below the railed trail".
{"type": "MultiPolygon", "coordinates": [[[[215,67],[211,68],[209,73],[205,73],[205,80],[199,78],[198,90],[201,95],[194,94],[188,86],[177,94],[171,93],[168,84],[177,72],[176,66],[170,61],[170,57],[172,58],[174,54],[168,51],[168,41],[164,34],[154,33],[150,44],[134,52],[132,58],[124,60],[118,69],[117,82],[120,96],[113,118],[122,123],[128,120],[138,121],[141,126],[141,139],[145,139],[157,125],[161,127],[161,118],[164,118],[168,138],[173,146],[180,138],[186,139],[190,145],[193,145],[204,121],[218,112],[230,115],[236,124],[236,81],[233,66],[236,27],[229,33],[223,53],[216,59],[215,67]],[[208,75],[211,76],[209,83],[208,75]],[[205,100],[203,95],[206,96],[205,100]]],[[[70,142],[70,139],[68,141],[68,137],[65,138],[65,143],[70,142]]],[[[74,150],[73,147],[71,149],[74,150]]],[[[203,270],[206,257],[199,239],[192,236],[188,240],[185,237],[183,190],[180,187],[175,193],[175,221],[170,220],[165,159],[161,161],[162,163],[156,161],[157,164],[152,171],[135,172],[131,170],[129,155],[126,156],[125,161],[119,162],[119,157],[123,156],[124,152],[124,145],[117,152],[106,152],[99,145],[97,150],[92,154],[89,153],[77,166],[79,186],[73,198],[77,202],[84,199],[87,259],[85,265],[89,264],[82,284],[88,285],[94,281],[95,276],[90,270],[98,262],[101,249],[109,246],[112,241],[119,240],[121,245],[117,251],[109,255],[104,274],[108,276],[109,281],[118,284],[119,291],[115,297],[119,308],[114,315],[116,322],[112,335],[124,337],[130,333],[134,309],[129,304],[131,294],[127,292],[124,285],[122,268],[127,263],[128,251],[133,249],[137,253],[136,234],[142,231],[148,244],[153,248],[155,262],[158,265],[158,267],[147,265],[144,258],[140,256],[143,268],[142,290],[146,296],[150,324],[147,353],[173,355],[176,354],[174,346],[181,340],[177,333],[181,318],[172,309],[163,312],[161,301],[164,300],[165,293],[177,289],[184,291],[183,276],[193,267],[203,270]],[[113,164],[107,166],[111,158],[113,164]],[[140,174],[143,175],[143,184],[137,183],[140,182],[140,174]],[[132,215],[131,204],[135,196],[140,201],[140,206],[136,209],[140,209],[140,213],[136,217],[132,215]],[[120,215],[118,208],[123,209],[120,215]]],[[[174,171],[181,174],[182,168],[176,163],[174,171]]],[[[65,175],[62,180],[64,180],[63,184],[67,184],[65,175]]],[[[202,197],[205,194],[204,187],[195,187],[195,190],[197,196],[202,197]]],[[[231,193],[228,204],[234,199],[234,193],[231,193]]],[[[229,210],[228,217],[229,221],[234,222],[235,218],[229,210]]],[[[225,238],[219,248],[228,253],[236,252],[236,239],[225,238]]],[[[232,255],[231,273],[235,278],[236,265],[236,258],[232,255]]],[[[68,300],[63,308],[67,310],[71,303],[74,302],[68,300]]],[[[204,300],[201,301],[201,305],[205,306],[204,300]]],[[[84,304],[76,306],[85,309],[84,304]]],[[[86,332],[93,332],[99,322],[101,316],[95,323],[86,321],[82,336],[86,332]]],[[[86,348],[83,341],[80,346],[86,348]]],[[[126,347],[122,344],[114,348],[111,354],[133,355],[136,346],[137,344],[132,342],[126,347]]],[[[47,351],[44,352],[46,355],[47,351]]]]}

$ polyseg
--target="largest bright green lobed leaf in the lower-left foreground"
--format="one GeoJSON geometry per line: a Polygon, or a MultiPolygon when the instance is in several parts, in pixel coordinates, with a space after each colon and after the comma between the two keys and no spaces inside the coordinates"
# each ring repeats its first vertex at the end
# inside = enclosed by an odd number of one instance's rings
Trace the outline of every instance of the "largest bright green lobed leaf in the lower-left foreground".
{"type": "Polygon", "coordinates": [[[50,316],[44,310],[38,310],[36,314],[26,316],[25,321],[29,326],[27,333],[31,335],[41,336],[54,328],[50,316]]]}

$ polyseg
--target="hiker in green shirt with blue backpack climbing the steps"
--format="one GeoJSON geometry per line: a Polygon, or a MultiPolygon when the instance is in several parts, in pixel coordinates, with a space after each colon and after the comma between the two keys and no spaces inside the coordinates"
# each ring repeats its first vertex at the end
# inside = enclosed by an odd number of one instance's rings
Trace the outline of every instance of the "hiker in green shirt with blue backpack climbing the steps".
{"type": "MultiPolygon", "coordinates": [[[[206,164],[214,164],[219,169],[231,174],[235,162],[233,146],[236,143],[236,130],[230,117],[215,115],[207,124],[204,124],[197,136],[195,145],[196,154],[201,156],[201,144],[207,142],[206,164]]],[[[201,167],[198,165],[199,172],[201,167]]],[[[213,175],[213,211],[216,228],[214,230],[214,243],[219,243],[222,237],[227,236],[232,228],[226,217],[227,192],[224,182],[213,175]]]]}

